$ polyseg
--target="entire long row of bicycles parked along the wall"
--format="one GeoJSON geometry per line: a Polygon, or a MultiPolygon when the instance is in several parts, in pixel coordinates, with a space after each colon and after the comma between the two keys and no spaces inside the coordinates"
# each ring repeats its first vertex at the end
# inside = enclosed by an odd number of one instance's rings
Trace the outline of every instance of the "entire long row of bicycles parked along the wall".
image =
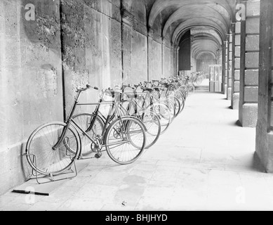
{"type": "Polygon", "coordinates": [[[109,158],[121,165],[134,162],[157,142],[185,107],[194,85],[189,79],[153,80],[100,91],[98,103],[79,103],[87,84],[76,97],[65,122],[50,122],[35,129],[25,148],[36,174],[55,176],[71,169],[74,160],[109,158]],[[92,113],[75,115],[80,105],[94,105],[92,113]],[[107,113],[105,113],[107,109],[107,113]]]}

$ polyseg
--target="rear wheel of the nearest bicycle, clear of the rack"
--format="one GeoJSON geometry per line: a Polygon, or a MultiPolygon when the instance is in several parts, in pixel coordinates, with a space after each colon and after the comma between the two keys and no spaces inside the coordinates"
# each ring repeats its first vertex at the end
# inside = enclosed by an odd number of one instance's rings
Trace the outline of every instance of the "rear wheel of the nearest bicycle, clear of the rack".
{"type": "Polygon", "coordinates": [[[145,150],[145,126],[135,117],[114,120],[105,135],[105,148],[109,158],[121,165],[138,160],[145,150]]]}

